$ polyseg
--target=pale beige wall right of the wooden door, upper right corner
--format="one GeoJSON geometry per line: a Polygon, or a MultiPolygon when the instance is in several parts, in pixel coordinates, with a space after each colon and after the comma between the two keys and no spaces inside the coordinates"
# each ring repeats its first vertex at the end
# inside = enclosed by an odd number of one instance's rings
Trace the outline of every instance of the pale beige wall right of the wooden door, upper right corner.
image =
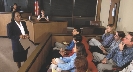
{"type": "Polygon", "coordinates": [[[121,0],[117,30],[133,31],[133,0],[121,0]]]}

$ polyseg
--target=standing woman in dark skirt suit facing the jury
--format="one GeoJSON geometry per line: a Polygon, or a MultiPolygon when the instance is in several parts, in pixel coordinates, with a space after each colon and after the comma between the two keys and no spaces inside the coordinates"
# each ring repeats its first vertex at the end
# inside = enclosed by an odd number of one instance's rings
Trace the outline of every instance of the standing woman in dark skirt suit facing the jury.
{"type": "Polygon", "coordinates": [[[24,50],[19,40],[29,38],[29,31],[27,30],[26,22],[21,21],[20,13],[17,11],[12,13],[11,22],[7,25],[7,35],[12,42],[14,62],[20,68],[21,62],[27,59],[28,50],[24,50]]]}

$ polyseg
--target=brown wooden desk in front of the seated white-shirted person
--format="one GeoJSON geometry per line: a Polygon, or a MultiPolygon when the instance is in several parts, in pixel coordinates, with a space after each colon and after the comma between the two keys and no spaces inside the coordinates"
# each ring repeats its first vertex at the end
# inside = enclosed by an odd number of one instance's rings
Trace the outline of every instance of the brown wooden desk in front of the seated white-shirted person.
{"type": "Polygon", "coordinates": [[[44,33],[67,33],[67,22],[30,22],[26,21],[30,39],[40,43],[44,33]]]}

